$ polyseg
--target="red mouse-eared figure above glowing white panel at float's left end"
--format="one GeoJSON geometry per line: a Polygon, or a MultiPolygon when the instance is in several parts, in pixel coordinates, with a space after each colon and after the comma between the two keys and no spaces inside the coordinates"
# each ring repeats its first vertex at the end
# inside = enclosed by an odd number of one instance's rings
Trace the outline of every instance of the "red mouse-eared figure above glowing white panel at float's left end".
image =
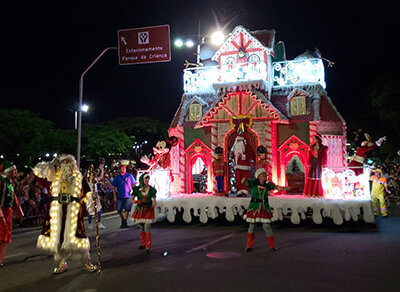
{"type": "Polygon", "coordinates": [[[178,144],[178,139],[171,136],[166,141],[158,141],[156,147],[153,147],[154,157],[149,159],[146,155],[140,161],[147,164],[148,172],[151,174],[151,184],[157,189],[159,198],[168,198],[170,195],[171,181],[171,147],[178,144]]]}

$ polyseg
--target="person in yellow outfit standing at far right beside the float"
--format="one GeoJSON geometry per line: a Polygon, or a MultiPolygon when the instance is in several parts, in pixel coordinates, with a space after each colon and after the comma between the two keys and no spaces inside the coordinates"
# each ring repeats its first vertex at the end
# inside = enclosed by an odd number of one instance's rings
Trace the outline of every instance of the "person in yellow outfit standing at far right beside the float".
{"type": "Polygon", "coordinates": [[[387,179],[382,175],[382,170],[377,168],[373,170],[373,175],[370,180],[372,181],[371,198],[374,205],[374,215],[379,215],[379,210],[383,217],[387,217],[387,206],[385,201],[385,191],[390,194],[388,189],[387,179]]]}

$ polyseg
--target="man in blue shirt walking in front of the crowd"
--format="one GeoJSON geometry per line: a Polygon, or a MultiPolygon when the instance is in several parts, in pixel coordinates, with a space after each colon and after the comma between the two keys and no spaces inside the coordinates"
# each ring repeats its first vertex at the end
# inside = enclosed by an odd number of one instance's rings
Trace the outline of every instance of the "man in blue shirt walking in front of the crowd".
{"type": "Polygon", "coordinates": [[[131,191],[136,184],[136,180],[133,176],[126,172],[126,165],[121,164],[120,174],[117,175],[112,181],[114,187],[114,202],[117,202],[117,212],[121,217],[121,228],[128,228],[128,216],[132,209],[132,204],[129,201],[131,197],[131,191]]]}

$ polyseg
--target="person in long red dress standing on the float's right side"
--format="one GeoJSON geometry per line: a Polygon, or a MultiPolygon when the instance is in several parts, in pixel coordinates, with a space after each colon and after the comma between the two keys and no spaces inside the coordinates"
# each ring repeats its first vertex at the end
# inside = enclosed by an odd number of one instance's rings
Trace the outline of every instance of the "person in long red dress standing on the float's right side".
{"type": "Polygon", "coordinates": [[[313,137],[313,144],[308,150],[307,179],[303,194],[308,197],[323,197],[322,189],[322,167],[326,165],[328,147],[322,144],[322,138],[318,135],[313,137]]]}

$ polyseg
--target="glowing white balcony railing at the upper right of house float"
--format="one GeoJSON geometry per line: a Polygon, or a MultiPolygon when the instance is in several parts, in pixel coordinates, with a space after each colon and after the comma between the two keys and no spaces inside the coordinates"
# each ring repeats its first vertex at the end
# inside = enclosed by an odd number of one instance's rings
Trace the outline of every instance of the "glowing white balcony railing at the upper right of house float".
{"type": "Polygon", "coordinates": [[[324,64],[318,58],[275,62],[272,71],[274,87],[300,84],[320,84],[326,87],[324,64]]]}

